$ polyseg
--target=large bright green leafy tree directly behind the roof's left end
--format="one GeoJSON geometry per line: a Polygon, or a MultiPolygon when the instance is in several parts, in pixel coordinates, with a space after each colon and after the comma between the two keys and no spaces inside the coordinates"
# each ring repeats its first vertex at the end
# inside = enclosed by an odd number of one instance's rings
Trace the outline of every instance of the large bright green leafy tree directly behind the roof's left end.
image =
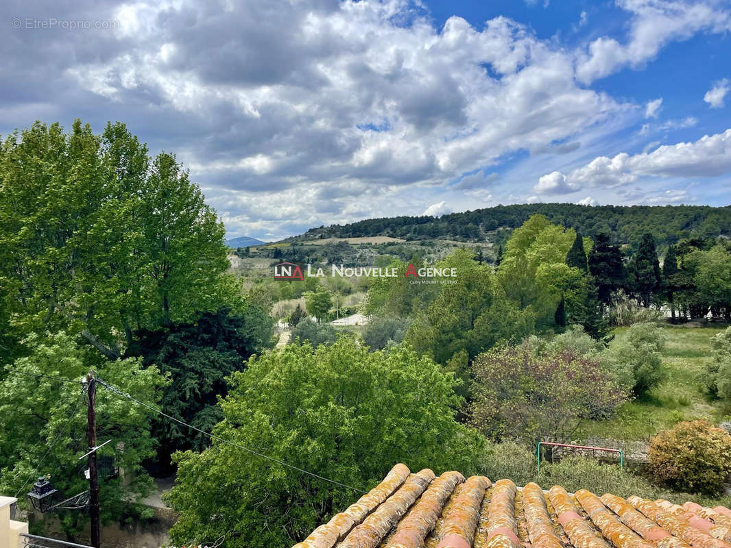
{"type": "MultiPolygon", "coordinates": [[[[399,462],[474,473],[484,441],[455,422],[454,385],[403,347],[289,345],[233,375],[216,434],[362,490],[399,462]]],[[[291,546],[357,497],[221,441],[176,459],[175,544],[224,535],[227,548],[291,546]]]]}

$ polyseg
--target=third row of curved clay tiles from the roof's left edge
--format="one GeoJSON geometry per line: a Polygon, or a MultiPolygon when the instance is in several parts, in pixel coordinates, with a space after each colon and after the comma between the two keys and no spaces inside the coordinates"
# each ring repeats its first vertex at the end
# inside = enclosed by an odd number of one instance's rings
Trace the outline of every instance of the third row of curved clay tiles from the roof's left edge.
{"type": "Polygon", "coordinates": [[[435,479],[421,496],[414,509],[398,524],[387,548],[420,548],[429,531],[442,514],[442,507],[450,498],[457,484],[464,481],[459,472],[444,472],[435,479]]]}

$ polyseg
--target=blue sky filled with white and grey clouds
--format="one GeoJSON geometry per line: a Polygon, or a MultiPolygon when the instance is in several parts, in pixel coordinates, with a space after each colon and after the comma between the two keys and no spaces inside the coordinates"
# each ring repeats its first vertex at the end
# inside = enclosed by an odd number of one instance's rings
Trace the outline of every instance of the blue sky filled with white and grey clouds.
{"type": "Polygon", "coordinates": [[[731,203],[731,0],[6,0],[0,134],[122,121],[229,237],[731,203]]]}

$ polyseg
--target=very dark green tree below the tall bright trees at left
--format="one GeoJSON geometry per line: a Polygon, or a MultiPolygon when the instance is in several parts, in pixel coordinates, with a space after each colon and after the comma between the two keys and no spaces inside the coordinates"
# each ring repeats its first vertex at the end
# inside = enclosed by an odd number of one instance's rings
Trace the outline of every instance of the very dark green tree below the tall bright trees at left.
{"type": "MultiPolygon", "coordinates": [[[[221,420],[216,407],[227,393],[227,376],[244,367],[251,355],[270,346],[272,321],[251,306],[232,315],[227,308],[205,312],[194,323],[173,324],[168,330],[140,332],[127,356],[143,357],[172,381],[162,397],[162,411],[189,425],[210,432],[221,420]]],[[[170,455],[184,449],[200,451],[208,436],[168,419],[156,419],[156,463],[170,467],[170,455]]]]}

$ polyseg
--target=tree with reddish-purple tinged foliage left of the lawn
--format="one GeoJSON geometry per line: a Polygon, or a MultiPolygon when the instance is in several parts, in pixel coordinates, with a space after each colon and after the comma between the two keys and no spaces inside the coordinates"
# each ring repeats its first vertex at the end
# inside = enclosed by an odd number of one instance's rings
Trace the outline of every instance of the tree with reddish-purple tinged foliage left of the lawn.
{"type": "Polygon", "coordinates": [[[626,400],[596,357],[570,348],[504,346],[480,354],[472,369],[471,425],[497,441],[561,439],[580,419],[610,416],[626,400]]]}

